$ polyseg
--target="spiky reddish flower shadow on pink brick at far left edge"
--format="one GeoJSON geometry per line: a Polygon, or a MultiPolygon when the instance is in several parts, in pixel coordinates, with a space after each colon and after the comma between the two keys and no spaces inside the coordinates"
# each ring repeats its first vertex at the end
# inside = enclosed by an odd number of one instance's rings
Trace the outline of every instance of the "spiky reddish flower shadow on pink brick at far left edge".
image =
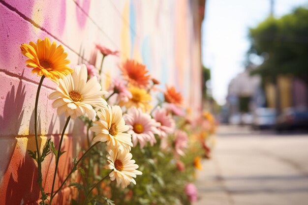
{"type": "MultiPolygon", "coordinates": [[[[23,86],[22,78],[24,72],[20,76],[20,82],[17,87],[15,95],[15,86],[6,94],[3,113],[0,116],[0,135],[18,135],[19,128],[24,116],[24,102],[25,102],[25,85],[23,86]]],[[[6,156],[6,155],[4,155],[6,156]]]]}

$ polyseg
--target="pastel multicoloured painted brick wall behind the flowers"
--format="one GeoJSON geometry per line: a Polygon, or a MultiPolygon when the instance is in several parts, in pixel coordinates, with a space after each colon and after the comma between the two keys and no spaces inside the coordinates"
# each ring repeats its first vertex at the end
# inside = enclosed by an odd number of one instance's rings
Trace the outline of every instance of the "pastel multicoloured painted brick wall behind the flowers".
{"type": "MultiPolygon", "coordinates": [[[[48,36],[64,46],[72,64],[99,66],[100,43],[121,52],[104,61],[106,88],[119,74],[118,64],[138,59],[162,83],[175,85],[187,107],[201,109],[200,34],[196,35],[194,0],[0,0],[0,205],[32,204],[39,198],[37,167],[27,149],[35,149],[34,99],[39,77],[25,65],[19,46],[48,36]]],[[[203,8],[204,9],[204,8],[203,8]]],[[[198,22],[197,25],[201,25],[198,22]]],[[[199,31],[200,29],[197,29],[199,31]]],[[[56,87],[44,81],[39,101],[40,146],[48,138],[59,143],[64,117],[47,99],[56,87]]],[[[83,142],[78,120],[70,123],[64,138],[60,177],[70,170],[71,156],[83,142]],[[75,134],[74,134],[75,133],[75,134]]],[[[43,162],[45,188],[51,188],[54,158],[43,162]],[[46,177],[48,176],[48,177],[46,177]]],[[[57,188],[57,187],[56,187],[57,188]]],[[[69,201],[66,187],[55,204],[69,201]],[[64,193],[64,194],[63,194],[64,193]]]]}

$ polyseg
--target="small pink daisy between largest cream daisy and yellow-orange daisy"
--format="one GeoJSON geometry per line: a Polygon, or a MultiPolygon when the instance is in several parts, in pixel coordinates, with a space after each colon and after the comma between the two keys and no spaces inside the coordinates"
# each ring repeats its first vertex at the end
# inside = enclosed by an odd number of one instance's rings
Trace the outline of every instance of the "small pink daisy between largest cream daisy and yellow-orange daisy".
{"type": "Polygon", "coordinates": [[[127,102],[129,98],[132,98],[130,91],[126,88],[123,82],[117,78],[113,79],[112,84],[108,88],[110,93],[114,92],[118,94],[117,100],[127,102]]]}

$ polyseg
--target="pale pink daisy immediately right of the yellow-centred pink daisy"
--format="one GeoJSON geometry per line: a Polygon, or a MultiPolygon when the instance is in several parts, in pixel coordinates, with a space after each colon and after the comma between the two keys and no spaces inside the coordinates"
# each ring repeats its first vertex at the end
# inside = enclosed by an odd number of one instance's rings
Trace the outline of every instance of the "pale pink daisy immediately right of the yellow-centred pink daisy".
{"type": "Polygon", "coordinates": [[[153,113],[153,118],[156,122],[160,122],[159,137],[167,137],[167,134],[173,133],[175,129],[175,122],[171,115],[167,114],[167,110],[164,108],[157,108],[153,113]]]}

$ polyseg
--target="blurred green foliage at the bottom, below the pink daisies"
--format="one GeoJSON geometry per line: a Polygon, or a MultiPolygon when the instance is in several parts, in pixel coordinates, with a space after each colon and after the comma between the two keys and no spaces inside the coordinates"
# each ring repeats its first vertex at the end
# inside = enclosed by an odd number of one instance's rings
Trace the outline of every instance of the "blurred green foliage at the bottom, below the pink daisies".
{"type": "Polygon", "coordinates": [[[184,187],[187,181],[193,180],[193,159],[202,153],[201,146],[187,150],[186,156],[179,159],[185,164],[183,172],[177,169],[176,159],[171,150],[161,150],[159,140],[154,146],[146,146],[143,149],[139,146],[134,147],[131,153],[136,164],[140,165],[142,175],[136,177],[136,185],[128,186],[127,189],[130,191],[112,187],[111,199],[115,204],[190,205],[184,187]]]}

